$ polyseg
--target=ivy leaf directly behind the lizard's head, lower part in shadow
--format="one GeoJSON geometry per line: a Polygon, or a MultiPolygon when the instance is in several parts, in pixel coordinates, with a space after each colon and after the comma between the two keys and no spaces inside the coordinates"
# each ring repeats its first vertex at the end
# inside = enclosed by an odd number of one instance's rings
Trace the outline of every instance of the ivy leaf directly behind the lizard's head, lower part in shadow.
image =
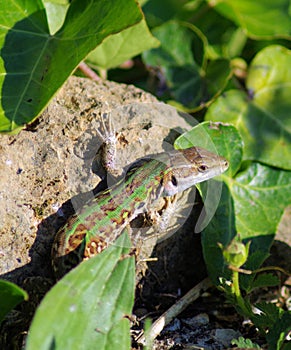
{"type": "MultiPolygon", "coordinates": [[[[221,179],[234,176],[240,169],[243,144],[232,125],[204,122],[176,139],[175,147],[200,146],[224,156],[229,161],[229,169],[221,179]]],[[[219,284],[219,277],[229,276],[222,250],[236,235],[234,203],[224,182],[209,180],[197,186],[202,195],[205,211],[198,220],[195,231],[202,232],[203,254],[213,283],[219,284]],[[200,222],[201,221],[201,222],[200,222]]]]}

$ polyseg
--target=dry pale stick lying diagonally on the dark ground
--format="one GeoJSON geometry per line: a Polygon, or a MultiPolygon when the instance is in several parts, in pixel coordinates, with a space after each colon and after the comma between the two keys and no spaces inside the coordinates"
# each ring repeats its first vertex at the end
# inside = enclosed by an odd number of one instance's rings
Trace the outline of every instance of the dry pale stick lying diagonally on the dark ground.
{"type": "Polygon", "coordinates": [[[180,300],[178,300],[173,306],[171,306],[166,312],[164,312],[151,326],[146,334],[141,333],[137,337],[136,341],[145,345],[155,339],[163,330],[163,328],[169,324],[177,315],[185,310],[193,301],[198,299],[200,295],[212,286],[209,278],[205,278],[198,283],[195,287],[189,290],[180,300]]]}

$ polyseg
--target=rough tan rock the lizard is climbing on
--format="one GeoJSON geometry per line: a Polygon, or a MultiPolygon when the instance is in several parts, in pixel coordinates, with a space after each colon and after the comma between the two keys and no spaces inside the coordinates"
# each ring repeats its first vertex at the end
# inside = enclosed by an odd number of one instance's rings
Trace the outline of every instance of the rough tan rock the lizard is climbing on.
{"type": "MultiPolygon", "coordinates": [[[[96,130],[109,112],[118,132],[120,168],[172,149],[193,125],[187,115],[133,86],[71,77],[33,124],[0,138],[3,278],[21,285],[26,277],[52,276],[56,231],[100,181],[92,171],[102,144],[96,130]]],[[[114,181],[107,180],[109,186],[114,181]]]]}

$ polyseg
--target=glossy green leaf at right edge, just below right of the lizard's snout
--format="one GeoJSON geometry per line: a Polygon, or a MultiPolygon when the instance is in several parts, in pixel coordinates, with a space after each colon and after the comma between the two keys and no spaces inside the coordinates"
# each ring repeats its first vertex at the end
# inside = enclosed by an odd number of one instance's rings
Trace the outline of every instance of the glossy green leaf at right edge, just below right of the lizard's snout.
{"type": "Polygon", "coordinates": [[[241,238],[268,235],[291,198],[291,172],[252,163],[234,179],[226,178],[234,200],[237,232],[241,238]]]}

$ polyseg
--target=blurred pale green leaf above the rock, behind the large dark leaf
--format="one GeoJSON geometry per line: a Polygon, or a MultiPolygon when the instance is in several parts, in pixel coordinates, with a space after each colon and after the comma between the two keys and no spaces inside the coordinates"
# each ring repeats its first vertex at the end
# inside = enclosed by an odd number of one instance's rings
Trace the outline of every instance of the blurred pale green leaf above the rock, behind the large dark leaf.
{"type": "Polygon", "coordinates": [[[98,67],[109,69],[117,67],[142,51],[157,46],[159,46],[159,41],[151,35],[145,20],[142,20],[133,27],[107,37],[89,54],[87,61],[98,67]]]}

